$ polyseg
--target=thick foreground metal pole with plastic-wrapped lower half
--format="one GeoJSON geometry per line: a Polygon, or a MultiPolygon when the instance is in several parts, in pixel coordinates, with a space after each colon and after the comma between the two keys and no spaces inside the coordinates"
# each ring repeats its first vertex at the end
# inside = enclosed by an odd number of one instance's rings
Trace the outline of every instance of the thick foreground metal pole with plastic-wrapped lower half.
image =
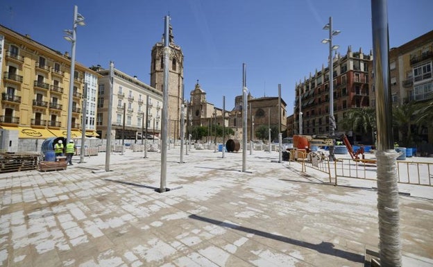
{"type": "Polygon", "coordinates": [[[387,0],[371,1],[377,119],[377,212],[380,266],[402,266],[397,153],[393,147],[387,0]]]}

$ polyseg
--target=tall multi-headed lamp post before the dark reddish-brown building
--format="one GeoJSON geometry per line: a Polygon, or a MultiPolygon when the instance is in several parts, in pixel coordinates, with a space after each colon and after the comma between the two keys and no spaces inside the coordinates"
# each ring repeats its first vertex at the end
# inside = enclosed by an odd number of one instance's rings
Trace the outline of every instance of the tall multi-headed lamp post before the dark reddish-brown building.
{"type": "MultiPolygon", "coordinates": [[[[329,31],[329,37],[327,39],[323,39],[323,44],[329,44],[329,60],[328,60],[328,69],[329,69],[329,83],[330,83],[330,107],[329,107],[329,135],[330,138],[334,139],[334,130],[336,128],[335,126],[335,119],[334,119],[334,71],[333,71],[333,62],[332,62],[332,51],[337,50],[339,46],[332,45],[332,37],[335,35],[338,35],[341,33],[341,31],[334,31],[332,30],[332,17],[330,17],[329,23],[323,26],[323,30],[329,31]]],[[[330,161],[332,162],[334,160],[334,145],[330,146],[330,161]]]]}

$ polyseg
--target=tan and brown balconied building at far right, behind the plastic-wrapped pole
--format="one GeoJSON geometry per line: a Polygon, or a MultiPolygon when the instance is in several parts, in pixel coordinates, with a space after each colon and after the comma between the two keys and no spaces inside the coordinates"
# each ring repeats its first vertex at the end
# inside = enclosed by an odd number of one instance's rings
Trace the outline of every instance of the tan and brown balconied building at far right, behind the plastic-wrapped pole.
{"type": "MultiPolygon", "coordinates": [[[[403,105],[414,101],[424,103],[433,98],[433,31],[425,33],[402,46],[389,51],[389,76],[392,104],[403,105]]],[[[371,102],[375,107],[376,96],[373,80],[373,62],[370,67],[371,102]]],[[[433,128],[421,126],[416,132],[419,141],[433,144],[433,128]]],[[[394,136],[398,137],[397,129],[394,136]]],[[[396,139],[396,138],[395,138],[396,139]]],[[[398,141],[398,139],[396,139],[398,141]]]]}

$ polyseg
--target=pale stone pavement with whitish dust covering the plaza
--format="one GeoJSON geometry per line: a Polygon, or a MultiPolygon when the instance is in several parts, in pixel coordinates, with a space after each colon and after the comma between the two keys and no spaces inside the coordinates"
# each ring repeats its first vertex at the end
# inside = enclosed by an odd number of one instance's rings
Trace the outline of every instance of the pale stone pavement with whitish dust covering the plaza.
{"type": "MultiPolygon", "coordinates": [[[[0,174],[0,266],[364,266],[377,192],[327,184],[278,153],[192,150],[85,157],[65,171],[0,174]]],[[[359,182],[359,181],[357,181],[359,182]]],[[[358,187],[359,186],[359,187],[358,187]]],[[[423,187],[425,188],[425,187],[423,187]]],[[[400,196],[404,266],[433,266],[433,194],[400,196]],[[432,196],[428,198],[428,196],[432,196]]]]}

